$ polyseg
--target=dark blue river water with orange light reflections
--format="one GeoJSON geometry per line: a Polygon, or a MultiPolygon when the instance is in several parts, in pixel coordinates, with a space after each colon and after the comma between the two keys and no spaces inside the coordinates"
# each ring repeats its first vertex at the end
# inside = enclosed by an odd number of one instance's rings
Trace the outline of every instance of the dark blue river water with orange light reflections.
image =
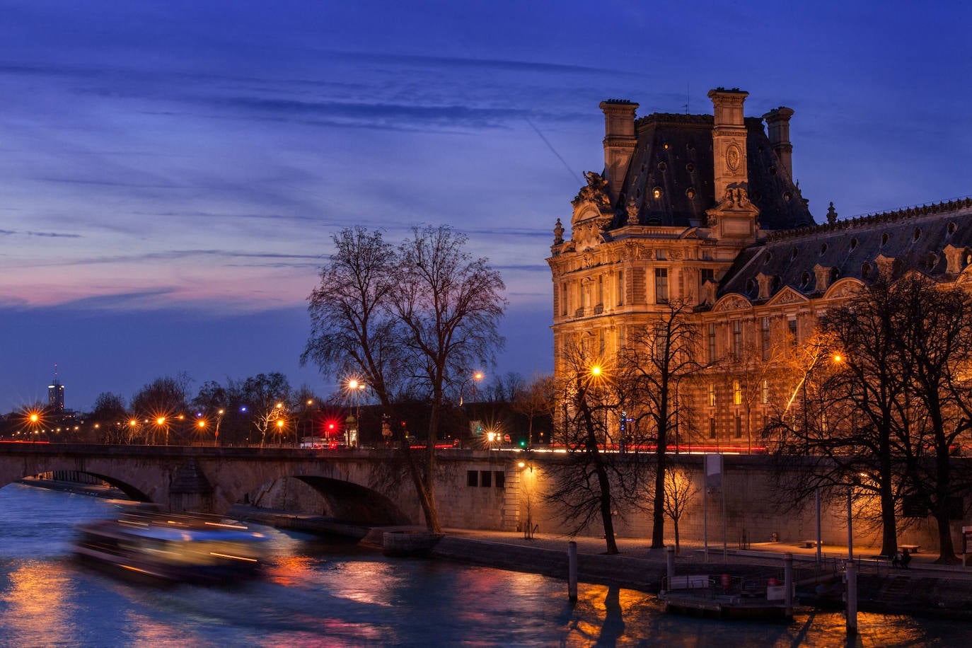
{"type": "MultiPolygon", "coordinates": [[[[386,559],[261,529],[272,565],[236,588],[157,589],[72,562],[75,525],[112,504],[11,485],[0,490],[3,646],[841,646],[840,614],[738,623],[662,614],[653,597],[435,561],[386,559]]],[[[862,614],[849,645],[961,645],[972,627],[862,614]]]]}

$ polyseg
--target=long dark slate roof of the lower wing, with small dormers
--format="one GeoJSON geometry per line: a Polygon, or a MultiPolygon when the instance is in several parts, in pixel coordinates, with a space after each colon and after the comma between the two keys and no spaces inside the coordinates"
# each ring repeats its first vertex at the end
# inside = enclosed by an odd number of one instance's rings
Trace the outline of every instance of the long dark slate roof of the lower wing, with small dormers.
{"type": "Polygon", "coordinates": [[[972,198],[962,198],[771,233],[764,244],[736,259],[718,294],[738,292],[767,301],[789,287],[821,295],[841,278],[870,283],[883,267],[893,273],[916,268],[948,279],[970,261],[972,198]],[[772,286],[768,295],[759,292],[760,275],[764,285],[772,286]]]}

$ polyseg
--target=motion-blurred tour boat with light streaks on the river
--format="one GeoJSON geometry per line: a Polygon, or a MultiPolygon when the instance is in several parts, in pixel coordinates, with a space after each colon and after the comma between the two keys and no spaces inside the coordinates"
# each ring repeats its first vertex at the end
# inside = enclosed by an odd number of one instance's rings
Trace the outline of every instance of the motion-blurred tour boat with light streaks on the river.
{"type": "Polygon", "coordinates": [[[219,585],[259,575],[262,533],[219,518],[125,513],[79,528],[75,555],[128,578],[219,585]]]}

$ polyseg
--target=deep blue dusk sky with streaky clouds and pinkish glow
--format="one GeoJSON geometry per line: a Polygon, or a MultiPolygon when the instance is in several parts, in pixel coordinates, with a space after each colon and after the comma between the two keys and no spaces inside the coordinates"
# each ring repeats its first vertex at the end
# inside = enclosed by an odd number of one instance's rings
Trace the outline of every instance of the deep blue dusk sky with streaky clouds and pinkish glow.
{"type": "Polygon", "coordinates": [[[552,368],[598,103],[785,105],[817,222],[972,193],[964,3],[0,0],[0,411],[299,367],[330,234],[449,223],[502,271],[495,372],[552,368]]]}

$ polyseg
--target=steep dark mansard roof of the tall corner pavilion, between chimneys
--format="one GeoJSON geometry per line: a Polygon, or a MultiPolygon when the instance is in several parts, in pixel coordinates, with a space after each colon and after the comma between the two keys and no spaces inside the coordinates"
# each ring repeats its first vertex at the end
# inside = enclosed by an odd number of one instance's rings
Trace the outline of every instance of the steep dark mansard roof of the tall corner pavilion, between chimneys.
{"type": "MultiPolygon", "coordinates": [[[[712,162],[712,115],[653,113],[635,121],[638,143],[628,165],[611,227],[627,223],[634,198],[640,224],[706,224],[715,206],[712,162]],[[658,196],[655,196],[658,189],[658,196]]],[[[791,229],[814,218],[781,165],[763,129],[763,120],[746,118],[749,199],[759,208],[765,229],[791,229]]]]}

